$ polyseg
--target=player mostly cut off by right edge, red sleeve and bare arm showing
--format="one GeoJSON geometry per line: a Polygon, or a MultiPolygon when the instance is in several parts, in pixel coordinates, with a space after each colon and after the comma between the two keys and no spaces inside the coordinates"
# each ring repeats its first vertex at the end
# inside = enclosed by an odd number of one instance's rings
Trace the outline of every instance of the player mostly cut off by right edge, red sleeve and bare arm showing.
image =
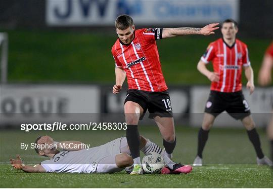
{"type": "MultiPolygon", "coordinates": [[[[272,81],[271,72],[273,69],[273,42],[266,49],[266,52],[263,56],[262,66],[259,71],[258,82],[261,86],[269,85],[272,81]]],[[[267,135],[270,139],[271,146],[271,159],[273,160],[273,104],[271,112],[271,120],[267,126],[267,135]]]]}

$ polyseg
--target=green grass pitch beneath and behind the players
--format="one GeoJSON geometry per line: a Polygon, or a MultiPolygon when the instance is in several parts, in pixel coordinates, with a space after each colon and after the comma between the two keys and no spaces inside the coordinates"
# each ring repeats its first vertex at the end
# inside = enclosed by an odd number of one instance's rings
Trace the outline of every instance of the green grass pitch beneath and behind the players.
{"type": "MultiPolygon", "coordinates": [[[[144,136],[162,146],[156,127],[140,127],[144,136]]],[[[269,146],[264,130],[258,130],[264,153],[269,146]]],[[[174,160],[191,164],[196,155],[197,128],[176,127],[177,145],[174,160]]],[[[1,131],[0,187],[273,187],[273,172],[257,166],[252,144],[244,129],[212,128],[204,150],[204,166],[194,167],[190,174],[131,176],[124,171],[114,174],[24,173],[14,170],[10,157],[20,154],[25,164],[36,164],[44,158],[33,149],[20,149],[20,142],[33,142],[37,135],[49,134],[56,140],[80,140],[96,146],[124,135],[124,131],[29,132],[1,131]],[[25,151],[25,152],[24,152],[25,151]]]]}

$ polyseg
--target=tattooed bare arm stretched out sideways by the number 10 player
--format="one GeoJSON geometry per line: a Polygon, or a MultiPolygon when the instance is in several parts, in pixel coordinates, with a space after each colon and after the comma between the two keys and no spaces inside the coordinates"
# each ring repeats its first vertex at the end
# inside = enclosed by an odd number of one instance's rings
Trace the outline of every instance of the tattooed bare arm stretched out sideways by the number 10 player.
{"type": "Polygon", "coordinates": [[[218,29],[216,27],[219,23],[208,24],[202,28],[195,27],[178,27],[178,28],[163,28],[162,38],[175,37],[179,35],[191,35],[191,34],[200,34],[200,35],[210,35],[214,34],[214,30],[218,29]]]}

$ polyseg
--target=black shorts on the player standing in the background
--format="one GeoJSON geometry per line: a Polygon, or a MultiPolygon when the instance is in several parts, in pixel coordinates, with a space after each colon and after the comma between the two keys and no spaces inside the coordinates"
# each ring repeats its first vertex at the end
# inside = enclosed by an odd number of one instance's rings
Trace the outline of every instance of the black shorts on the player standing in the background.
{"type": "Polygon", "coordinates": [[[250,107],[242,91],[233,93],[210,91],[205,112],[217,117],[224,110],[236,120],[242,120],[251,115],[250,107]]]}

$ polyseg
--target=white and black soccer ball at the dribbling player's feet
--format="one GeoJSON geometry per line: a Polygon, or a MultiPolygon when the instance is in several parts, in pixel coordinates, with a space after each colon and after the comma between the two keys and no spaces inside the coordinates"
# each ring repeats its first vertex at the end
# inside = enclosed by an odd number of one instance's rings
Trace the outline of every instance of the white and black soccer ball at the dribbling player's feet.
{"type": "Polygon", "coordinates": [[[146,173],[158,174],[164,166],[163,157],[155,152],[149,153],[142,159],[142,168],[146,173]]]}

